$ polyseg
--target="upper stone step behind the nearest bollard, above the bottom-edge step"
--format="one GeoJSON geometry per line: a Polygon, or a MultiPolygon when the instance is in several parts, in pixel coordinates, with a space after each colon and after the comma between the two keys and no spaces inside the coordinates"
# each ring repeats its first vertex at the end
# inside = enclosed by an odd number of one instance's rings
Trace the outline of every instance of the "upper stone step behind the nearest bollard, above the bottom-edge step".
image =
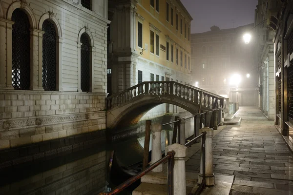
{"type": "MultiPolygon", "coordinates": [[[[167,170],[167,169],[165,169],[167,170]]],[[[194,187],[198,181],[198,173],[186,172],[186,186],[194,187]]],[[[153,183],[167,185],[167,172],[149,172],[141,178],[142,183],[153,183]]]]}

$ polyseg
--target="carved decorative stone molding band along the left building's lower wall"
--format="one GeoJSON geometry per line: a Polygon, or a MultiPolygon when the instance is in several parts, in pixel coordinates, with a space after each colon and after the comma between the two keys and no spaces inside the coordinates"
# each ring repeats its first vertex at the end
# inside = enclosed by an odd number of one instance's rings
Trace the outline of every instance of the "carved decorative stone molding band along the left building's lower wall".
{"type": "Polygon", "coordinates": [[[11,128],[20,128],[20,127],[29,127],[29,126],[40,126],[55,124],[60,122],[70,122],[70,121],[79,121],[87,119],[98,119],[105,117],[105,112],[96,112],[88,114],[76,114],[76,115],[66,115],[58,117],[36,117],[36,118],[26,118],[26,119],[16,119],[16,120],[4,120],[0,121],[0,129],[11,129],[11,128]]]}

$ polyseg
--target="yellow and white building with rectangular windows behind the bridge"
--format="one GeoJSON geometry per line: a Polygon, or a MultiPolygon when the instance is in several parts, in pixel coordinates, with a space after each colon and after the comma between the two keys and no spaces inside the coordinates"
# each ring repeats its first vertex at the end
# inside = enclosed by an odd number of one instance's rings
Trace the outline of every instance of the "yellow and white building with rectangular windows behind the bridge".
{"type": "MultiPolygon", "coordinates": [[[[190,82],[190,21],[180,0],[109,0],[108,92],[143,81],[190,82]]],[[[160,105],[144,118],[176,112],[160,105]]]]}

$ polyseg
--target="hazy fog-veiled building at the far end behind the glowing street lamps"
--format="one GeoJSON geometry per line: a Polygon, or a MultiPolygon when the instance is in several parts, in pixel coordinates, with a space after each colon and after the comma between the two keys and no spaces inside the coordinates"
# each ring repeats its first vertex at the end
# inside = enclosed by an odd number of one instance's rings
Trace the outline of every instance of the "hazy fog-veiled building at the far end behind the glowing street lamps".
{"type": "Polygon", "coordinates": [[[212,26],[208,32],[191,34],[192,85],[239,105],[255,105],[253,46],[243,41],[243,34],[252,27],[253,24],[232,29],[212,26]],[[234,75],[241,78],[239,84],[234,75]]]}

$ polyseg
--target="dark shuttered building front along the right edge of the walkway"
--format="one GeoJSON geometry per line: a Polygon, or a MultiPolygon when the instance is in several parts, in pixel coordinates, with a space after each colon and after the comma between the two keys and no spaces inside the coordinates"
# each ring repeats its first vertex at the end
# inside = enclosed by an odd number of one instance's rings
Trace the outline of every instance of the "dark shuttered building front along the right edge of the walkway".
{"type": "Polygon", "coordinates": [[[268,26],[274,31],[275,125],[293,143],[293,2],[277,0],[269,10],[268,26]]]}

